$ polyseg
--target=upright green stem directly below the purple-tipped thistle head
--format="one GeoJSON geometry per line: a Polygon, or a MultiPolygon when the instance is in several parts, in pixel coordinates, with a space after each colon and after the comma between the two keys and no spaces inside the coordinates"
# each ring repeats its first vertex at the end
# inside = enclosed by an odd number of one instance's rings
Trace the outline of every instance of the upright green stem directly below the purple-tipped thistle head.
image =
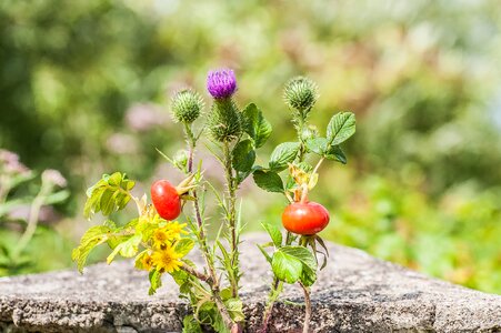
{"type": "Polygon", "coordinates": [[[230,284],[231,284],[231,293],[233,297],[238,297],[239,290],[239,272],[238,272],[238,261],[239,261],[239,250],[238,250],[238,231],[237,231],[237,212],[236,212],[236,180],[233,176],[233,168],[231,165],[231,151],[230,143],[224,141],[223,143],[223,154],[224,154],[224,173],[227,178],[227,189],[229,194],[228,200],[228,228],[230,232],[230,250],[231,250],[231,274],[230,275],[230,284]]]}

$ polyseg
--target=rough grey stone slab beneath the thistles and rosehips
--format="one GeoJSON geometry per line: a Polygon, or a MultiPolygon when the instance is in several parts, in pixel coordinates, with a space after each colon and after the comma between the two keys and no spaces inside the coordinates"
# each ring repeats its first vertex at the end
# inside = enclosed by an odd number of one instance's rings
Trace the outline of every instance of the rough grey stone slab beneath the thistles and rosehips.
{"type": "MultiPolygon", "coordinates": [[[[271,281],[251,234],[242,245],[247,331],[255,332],[271,281]]],[[[312,291],[313,332],[501,332],[501,296],[453,285],[367,253],[329,244],[330,262],[312,291]]],[[[148,296],[146,272],[128,261],[0,279],[2,332],[180,332],[189,311],[169,276],[148,296]]],[[[282,300],[301,302],[295,285],[282,300]]],[[[303,306],[277,304],[271,332],[298,332],[303,306]]]]}

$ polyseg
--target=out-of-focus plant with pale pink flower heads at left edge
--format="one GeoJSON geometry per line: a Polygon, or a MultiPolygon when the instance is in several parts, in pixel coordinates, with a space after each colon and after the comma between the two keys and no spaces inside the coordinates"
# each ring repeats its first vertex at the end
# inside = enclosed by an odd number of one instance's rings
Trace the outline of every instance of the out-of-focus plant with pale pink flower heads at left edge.
{"type": "Polygon", "coordinates": [[[64,243],[50,223],[58,220],[52,206],[69,196],[67,190],[59,189],[67,180],[57,170],[43,171],[40,181],[34,178],[16,153],[0,149],[0,276],[67,262],[60,246],[43,245],[64,243]]]}

